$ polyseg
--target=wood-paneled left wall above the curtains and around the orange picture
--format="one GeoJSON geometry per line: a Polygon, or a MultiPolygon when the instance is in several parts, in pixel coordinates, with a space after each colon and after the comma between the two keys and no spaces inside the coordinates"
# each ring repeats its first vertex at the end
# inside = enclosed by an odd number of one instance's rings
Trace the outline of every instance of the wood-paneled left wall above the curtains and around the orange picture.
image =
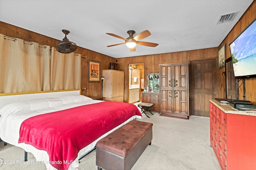
{"type": "MultiPolygon", "coordinates": [[[[20,38],[25,41],[39,43],[41,45],[49,45],[50,47],[56,47],[56,45],[60,42],[60,40],[16,27],[2,21],[0,21],[0,33],[8,37],[20,38]]],[[[88,49],[84,49],[82,47],[77,47],[75,53],[86,56],[86,58],[82,57],[81,88],[84,88],[82,89],[82,95],[92,98],[99,98],[101,96],[101,82],[88,82],[88,60],[100,62],[101,76],[102,70],[109,69],[109,63],[115,63],[116,59],[88,49]]]]}

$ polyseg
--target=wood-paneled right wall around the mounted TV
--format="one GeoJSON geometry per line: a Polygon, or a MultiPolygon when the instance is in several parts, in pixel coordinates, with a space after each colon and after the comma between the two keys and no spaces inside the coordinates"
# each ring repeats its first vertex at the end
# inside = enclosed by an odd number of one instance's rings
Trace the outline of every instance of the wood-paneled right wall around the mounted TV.
{"type": "MultiPolygon", "coordinates": [[[[240,18],[240,20],[236,23],[230,33],[226,36],[226,38],[222,41],[218,49],[220,50],[223,45],[226,47],[226,59],[231,57],[229,44],[255,19],[256,17],[256,0],[252,2],[250,7],[246,10],[244,15],[240,18]]],[[[256,66],[256,63],[255,63],[256,66]]],[[[222,76],[222,72],[225,72],[225,68],[219,70],[219,82],[225,82],[224,76],[222,76]]],[[[243,100],[243,85],[242,80],[239,82],[239,100],[243,100]]],[[[251,101],[252,104],[256,105],[256,78],[245,79],[245,100],[251,101]]],[[[220,98],[224,98],[224,87],[220,87],[220,98]]]]}

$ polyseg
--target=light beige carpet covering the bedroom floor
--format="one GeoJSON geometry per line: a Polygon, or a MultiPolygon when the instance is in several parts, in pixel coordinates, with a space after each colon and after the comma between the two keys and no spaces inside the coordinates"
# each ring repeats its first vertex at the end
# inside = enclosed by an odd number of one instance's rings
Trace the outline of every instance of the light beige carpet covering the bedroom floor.
{"type": "MultiPolygon", "coordinates": [[[[164,117],[153,112],[143,114],[141,121],[153,123],[153,139],[132,170],[221,170],[210,147],[209,117],[190,116],[189,120],[164,117]]],[[[78,170],[97,170],[96,151],[80,162],[78,170]]],[[[0,170],[45,170],[44,164],[22,164],[24,150],[0,142],[0,158],[11,164],[0,164],[0,170]]],[[[28,161],[36,162],[31,153],[28,161]]]]}

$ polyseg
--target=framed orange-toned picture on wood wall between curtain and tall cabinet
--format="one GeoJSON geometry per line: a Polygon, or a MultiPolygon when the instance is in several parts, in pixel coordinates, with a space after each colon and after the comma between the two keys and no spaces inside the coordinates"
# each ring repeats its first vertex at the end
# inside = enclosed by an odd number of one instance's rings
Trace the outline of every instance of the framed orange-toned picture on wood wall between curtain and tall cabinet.
{"type": "Polygon", "coordinates": [[[100,82],[100,62],[88,60],[88,82],[100,82]]]}

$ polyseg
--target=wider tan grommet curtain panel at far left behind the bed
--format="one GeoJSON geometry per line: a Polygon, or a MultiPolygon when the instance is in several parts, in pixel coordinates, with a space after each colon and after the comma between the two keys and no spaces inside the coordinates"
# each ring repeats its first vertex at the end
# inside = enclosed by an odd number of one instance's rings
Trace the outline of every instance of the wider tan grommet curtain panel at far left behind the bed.
{"type": "Polygon", "coordinates": [[[50,90],[50,46],[4,37],[0,34],[0,93],[50,90]]]}

